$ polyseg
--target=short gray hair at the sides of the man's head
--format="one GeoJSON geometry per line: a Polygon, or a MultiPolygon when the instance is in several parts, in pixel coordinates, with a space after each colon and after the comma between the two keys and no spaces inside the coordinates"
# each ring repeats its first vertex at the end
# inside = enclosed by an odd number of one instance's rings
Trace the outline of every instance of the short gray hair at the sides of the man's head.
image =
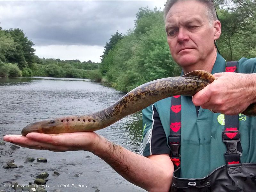
{"type": "MultiPolygon", "coordinates": [[[[167,13],[171,9],[172,5],[175,4],[177,1],[178,0],[167,0],[166,1],[165,7],[164,7],[164,22],[165,22],[167,13]]],[[[212,22],[215,21],[215,20],[218,20],[213,1],[211,1],[211,0],[204,0],[204,1],[198,0],[198,2],[200,2],[201,4],[204,4],[204,6],[207,8],[205,10],[205,13],[208,17],[210,26],[212,26],[212,22]]]]}

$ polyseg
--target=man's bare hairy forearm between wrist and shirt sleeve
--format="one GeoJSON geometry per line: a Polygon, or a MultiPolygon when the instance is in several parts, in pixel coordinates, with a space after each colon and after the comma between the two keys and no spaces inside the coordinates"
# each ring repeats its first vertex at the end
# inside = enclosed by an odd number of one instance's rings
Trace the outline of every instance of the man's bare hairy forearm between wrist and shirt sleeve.
{"type": "Polygon", "coordinates": [[[135,154],[103,137],[92,151],[131,183],[148,191],[168,191],[172,180],[172,166],[162,165],[135,154]]]}

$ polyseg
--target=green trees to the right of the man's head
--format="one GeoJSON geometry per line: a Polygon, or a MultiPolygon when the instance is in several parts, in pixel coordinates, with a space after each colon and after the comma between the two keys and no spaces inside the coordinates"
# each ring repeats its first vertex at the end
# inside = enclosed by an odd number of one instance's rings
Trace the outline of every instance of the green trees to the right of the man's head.
{"type": "Polygon", "coordinates": [[[255,57],[256,1],[214,1],[221,22],[217,41],[222,56],[228,60],[255,57]]]}

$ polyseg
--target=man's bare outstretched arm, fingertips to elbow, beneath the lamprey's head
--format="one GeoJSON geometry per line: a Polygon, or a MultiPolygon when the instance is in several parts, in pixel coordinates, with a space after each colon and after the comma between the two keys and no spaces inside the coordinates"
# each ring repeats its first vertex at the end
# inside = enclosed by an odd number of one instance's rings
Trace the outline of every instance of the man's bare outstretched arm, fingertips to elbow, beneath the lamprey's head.
{"type": "Polygon", "coordinates": [[[63,133],[47,135],[28,133],[6,135],[4,140],[32,149],[51,151],[86,150],[99,156],[116,172],[133,184],[147,191],[169,191],[173,164],[168,154],[147,157],[118,146],[95,132],[63,133]]]}

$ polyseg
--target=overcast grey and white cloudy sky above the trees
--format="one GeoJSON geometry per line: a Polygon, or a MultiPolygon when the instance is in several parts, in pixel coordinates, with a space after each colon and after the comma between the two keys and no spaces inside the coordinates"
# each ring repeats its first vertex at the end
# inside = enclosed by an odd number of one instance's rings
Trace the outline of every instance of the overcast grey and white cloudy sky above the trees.
{"type": "Polygon", "coordinates": [[[134,27],[140,7],[166,1],[0,1],[0,27],[20,28],[40,58],[100,62],[111,35],[134,27]]]}

